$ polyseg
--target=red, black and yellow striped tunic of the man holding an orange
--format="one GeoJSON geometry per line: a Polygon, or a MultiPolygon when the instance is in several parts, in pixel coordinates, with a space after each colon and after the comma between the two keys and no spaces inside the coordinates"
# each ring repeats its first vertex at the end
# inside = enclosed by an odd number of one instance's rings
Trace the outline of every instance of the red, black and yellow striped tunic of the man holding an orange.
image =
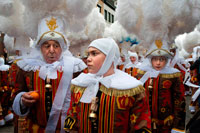
{"type": "MultiPolygon", "coordinates": [[[[25,119],[23,130],[29,132],[44,133],[48,121],[49,113],[52,107],[55,94],[61,80],[63,72],[57,72],[57,79],[51,79],[52,90],[47,93],[45,90],[45,81],[39,77],[39,71],[26,72],[19,70],[16,77],[18,89],[16,94],[21,91],[37,91],[39,93],[38,102],[30,108],[30,113],[25,119]]],[[[57,124],[56,132],[60,131],[60,120],[57,124]]]]}

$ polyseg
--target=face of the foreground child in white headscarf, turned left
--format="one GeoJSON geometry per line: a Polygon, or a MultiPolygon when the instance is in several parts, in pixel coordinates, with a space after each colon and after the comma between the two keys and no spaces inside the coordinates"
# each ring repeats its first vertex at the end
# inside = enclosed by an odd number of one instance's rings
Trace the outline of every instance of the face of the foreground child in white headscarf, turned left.
{"type": "Polygon", "coordinates": [[[97,73],[101,66],[103,65],[103,62],[106,58],[106,55],[99,51],[98,49],[94,47],[88,48],[88,58],[87,58],[87,66],[89,73],[97,73]]]}

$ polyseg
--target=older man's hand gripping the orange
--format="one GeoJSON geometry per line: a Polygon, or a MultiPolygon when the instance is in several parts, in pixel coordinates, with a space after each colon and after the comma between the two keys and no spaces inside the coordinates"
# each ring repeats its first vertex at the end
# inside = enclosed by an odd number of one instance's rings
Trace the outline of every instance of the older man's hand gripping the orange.
{"type": "Polygon", "coordinates": [[[33,106],[34,103],[36,103],[37,100],[35,100],[31,95],[30,92],[26,92],[22,95],[21,100],[22,103],[26,106],[26,107],[31,107],[33,106]]]}

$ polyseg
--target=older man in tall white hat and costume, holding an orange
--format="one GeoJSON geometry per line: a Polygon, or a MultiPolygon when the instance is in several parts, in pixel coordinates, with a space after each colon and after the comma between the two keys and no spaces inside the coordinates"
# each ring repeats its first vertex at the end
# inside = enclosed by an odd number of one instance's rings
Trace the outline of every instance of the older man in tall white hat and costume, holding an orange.
{"type": "Polygon", "coordinates": [[[42,19],[32,57],[17,62],[13,110],[20,117],[25,116],[18,123],[18,131],[64,132],[73,73],[86,68],[68,51],[64,29],[61,17],[42,19]]]}

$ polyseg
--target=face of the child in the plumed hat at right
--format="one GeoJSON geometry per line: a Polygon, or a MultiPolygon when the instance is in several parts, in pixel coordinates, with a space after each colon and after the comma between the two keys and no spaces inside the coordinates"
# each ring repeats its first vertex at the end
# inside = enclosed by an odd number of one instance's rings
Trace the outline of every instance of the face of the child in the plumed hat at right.
{"type": "Polygon", "coordinates": [[[154,56],[151,58],[152,67],[157,71],[162,70],[165,67],[166,63],[167,58],[164,56],[154,56]]]}

